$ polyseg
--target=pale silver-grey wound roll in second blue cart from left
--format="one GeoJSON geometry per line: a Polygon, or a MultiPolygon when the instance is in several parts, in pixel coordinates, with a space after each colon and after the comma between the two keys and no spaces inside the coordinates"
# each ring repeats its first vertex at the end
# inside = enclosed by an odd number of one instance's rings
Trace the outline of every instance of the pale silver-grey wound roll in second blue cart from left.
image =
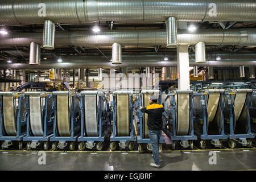
{"type": "Polygon", "coordinates": [[[30,127],[32,134],[36,137],[44,135],[43,122],[42,122],[42,104],[40,92],[29,92],[30,102],[30,127]]]}

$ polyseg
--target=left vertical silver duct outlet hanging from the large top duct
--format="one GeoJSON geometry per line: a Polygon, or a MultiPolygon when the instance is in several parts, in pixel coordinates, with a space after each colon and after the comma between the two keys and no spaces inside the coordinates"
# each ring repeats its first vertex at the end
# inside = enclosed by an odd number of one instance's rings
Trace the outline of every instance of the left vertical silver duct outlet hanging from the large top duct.
{"type": "Polygon", "coordinates": [[[54,49],[55,24],[50,20],[44,22],[43,48],[54,49]]]}

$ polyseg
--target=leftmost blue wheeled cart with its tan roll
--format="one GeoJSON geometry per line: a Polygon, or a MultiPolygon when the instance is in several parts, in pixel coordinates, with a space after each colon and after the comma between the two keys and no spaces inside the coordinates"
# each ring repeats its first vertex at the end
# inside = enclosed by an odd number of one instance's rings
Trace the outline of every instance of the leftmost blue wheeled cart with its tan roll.
{"type": "Polygon", "coordinates": [[[18,142],[22,150],[22,138],[26,135],[27,110],[25,97],[19,92],[0,92],[0,140],[2,149],[18,142]]]}

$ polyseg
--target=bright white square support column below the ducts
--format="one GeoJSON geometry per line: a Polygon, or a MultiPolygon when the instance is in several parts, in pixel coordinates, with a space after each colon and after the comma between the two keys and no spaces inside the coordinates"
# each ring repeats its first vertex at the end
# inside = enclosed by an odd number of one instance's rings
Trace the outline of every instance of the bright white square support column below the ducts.
{"type": "Polygon", "coordinates": [[[177,73],[179,73],[178,89],[189,90],[188,46],[177,47],[177,73]]]}

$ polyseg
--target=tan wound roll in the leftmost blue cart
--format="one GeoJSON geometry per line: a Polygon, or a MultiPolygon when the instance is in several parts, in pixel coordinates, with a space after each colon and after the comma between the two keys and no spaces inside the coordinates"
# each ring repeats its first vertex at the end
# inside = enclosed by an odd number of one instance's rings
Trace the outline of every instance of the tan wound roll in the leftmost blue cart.
{"type": "Polygon", "coordinates": [[[5,127],[7,135],[16,135],[14,99],[12,93],[3,96],[3,126],[5,127]]]}

